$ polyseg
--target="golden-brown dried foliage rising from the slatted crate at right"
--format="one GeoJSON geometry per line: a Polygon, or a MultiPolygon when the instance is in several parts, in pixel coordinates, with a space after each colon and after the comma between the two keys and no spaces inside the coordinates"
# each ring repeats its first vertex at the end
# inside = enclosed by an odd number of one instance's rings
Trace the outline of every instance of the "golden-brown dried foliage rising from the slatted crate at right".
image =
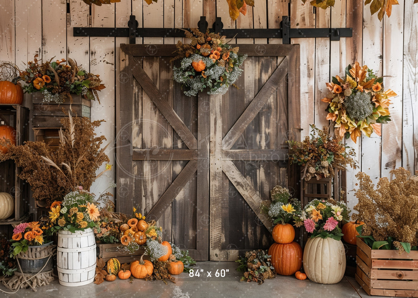
{"type": "Polygon", "coordinates": [[[363,221],[362,235],[372,235],[376,241],[391,236],[397,242],[418,245],[418,171],[412,177],[402,167],[390,173],[395,179],[389,182],[387,177],[380,178],[376,189],[367,174],[356,175],[359,189],[355,194],[359,202],[354,210],[359,213],[352,218],[363,221]]]}

